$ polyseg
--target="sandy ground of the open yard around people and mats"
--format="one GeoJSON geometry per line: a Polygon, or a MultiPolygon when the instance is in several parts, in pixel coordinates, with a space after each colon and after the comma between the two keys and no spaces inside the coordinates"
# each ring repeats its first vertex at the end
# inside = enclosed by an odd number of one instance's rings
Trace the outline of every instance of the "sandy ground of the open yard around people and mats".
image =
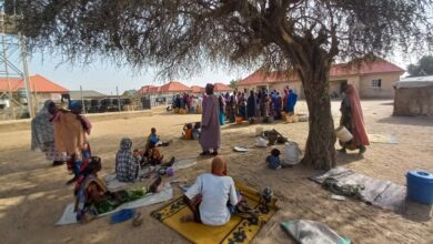
{"type": "MultiPolygon", "coordinates": [[[[409,170],[433,171],[433,118],[393,118],[391,101],[364,101],[362,105],[367,131],[394,134],[399,144],[372,143],[364,157],[339,154],[339,165],[400,184],[405,184],[404,174],[409,170]]],[[[305,103],[301,102],[298,112],[305,111],[305,103]]],[[[338,121],[338,102],[333,102],[333,114],[338,121]]],[[[197,157],[199,143],[177,138],[185,122],[199,120],[199,115],[159,114],[94,122],[90,143],[93,154],[103,160],[100,175],[114,171],[121,138],[130,136],[140,146],[151,126],[158,128],[162,139],[174,139],[172,145],[163,149],[167,157],[197,157]]],[[[279,197],[280,211],[253,243],[292,243],[278,225],[272,230],[271,226],[293,218],[320,221],[354,243],[433,243],[431,206],[399,215],[356,201],[333,201],[329,192],[306,179],[318,174],[316,171],[302,165],[268,170],[264,157],[271,149],[253,149],[246,154],[232,152],[236,144],[253,148],[256,126],[262,125],[224,125],[221,150],[232,176],[258,189],[271,186],[279,197]]],[[[265,128],[274,128],[304,146],[308,123],[275,123],[265,128]]],[[[64,206],[73,201],[72,186],[64,185],[70,176],[66,166],[51,167],[43,154],[30,152],[30,131],[2,132],[0,138],[0,243],[187,243],[149,215],[162,204],[140,210],[144,215],[140,227],[132,227],[130,222],[111,225],[109,217],[85,225],[54,226],[64,206]]],[[[195,166],[177,171],[174,177],[193,182],[210,166],[209,160],[198,160],[195,166]]],[[[175,190],[175,194],[180,191],[175,190]]]]}

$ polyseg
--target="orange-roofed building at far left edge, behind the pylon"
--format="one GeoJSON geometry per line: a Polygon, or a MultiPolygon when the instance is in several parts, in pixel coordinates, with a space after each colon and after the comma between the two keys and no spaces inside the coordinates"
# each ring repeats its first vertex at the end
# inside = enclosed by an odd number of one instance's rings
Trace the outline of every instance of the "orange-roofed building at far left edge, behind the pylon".
{"type": "MultiPolygon", "coordinates": [[[[14,105],[20,106],[27,104],[26,85],[21,78],[0,78],[0,93],[3,94],[1,95],[0,104],[4,104],[4,108],[9,108],[10,105],[9,96],[4,95],[8,94],[9,91],[12,92],[14,105]]],[[[46,100],[58,101],[61,99],[61,94],[69,92],[68,89],[40,74],[30,77],[30,91],[33,102],[38,108],[40,108],[46,100]]]]}

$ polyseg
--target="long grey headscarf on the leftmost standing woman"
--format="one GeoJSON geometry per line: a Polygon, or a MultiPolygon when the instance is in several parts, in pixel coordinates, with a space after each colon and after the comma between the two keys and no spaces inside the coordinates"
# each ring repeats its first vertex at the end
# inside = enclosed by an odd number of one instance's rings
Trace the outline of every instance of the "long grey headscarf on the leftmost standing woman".
{"type": "Polygon", "coordinates": [[[31,121],[31,150],[46,150],[47,142],[54,142],[54,128],[51,123],[52,114],[49,112],[51,100],[43,103],[43,108],[31,121]]]}

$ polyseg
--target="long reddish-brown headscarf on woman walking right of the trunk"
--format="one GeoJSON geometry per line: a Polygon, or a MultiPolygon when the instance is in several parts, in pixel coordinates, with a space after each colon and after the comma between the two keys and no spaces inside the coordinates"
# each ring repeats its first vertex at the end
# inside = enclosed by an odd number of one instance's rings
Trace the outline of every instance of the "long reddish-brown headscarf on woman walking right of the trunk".
{"type": "Polygon", "coordinates": [[[360,95],[353,84],[348,84],[345,94],[350,100],[352,115],[352,135],[355,145],[370,145],[369,136],[366,135],[364,115],[361,108],[360,95]]]}

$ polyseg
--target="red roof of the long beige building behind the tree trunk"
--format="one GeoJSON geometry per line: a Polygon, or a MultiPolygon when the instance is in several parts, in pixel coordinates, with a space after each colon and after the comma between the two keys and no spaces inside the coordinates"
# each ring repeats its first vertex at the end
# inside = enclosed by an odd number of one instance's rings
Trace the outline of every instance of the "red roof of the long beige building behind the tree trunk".
{"type": "MultiPolygon", "coordinates": [[[[350,77],[350,75],[365,75],[373,73],[393,73],[401,72],[404,70],[386,60],[380,59],[372,63],[362,62],[360,64],[348,65],[346,63],[333,64],[330,70],[330,78],[338,77],[350,77]]],[[[249,84],[261,84],[261,83],[273,83],[273,82],[282,82],[282,81],[298,81],[298,75],[291,74],[288,78],[286,72],[284,71],[255,71],[250,74],[245,79],[239,82],[240,85],[249,85],[249,84]]]]}

